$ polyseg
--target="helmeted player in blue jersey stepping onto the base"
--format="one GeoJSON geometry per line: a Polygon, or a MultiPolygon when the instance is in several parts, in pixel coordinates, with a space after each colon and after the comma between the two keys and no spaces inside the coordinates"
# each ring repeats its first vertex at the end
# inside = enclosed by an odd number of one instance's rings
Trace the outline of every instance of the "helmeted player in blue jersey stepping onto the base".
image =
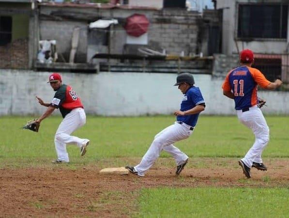
{"type": "Polygon", "coordinates": [[[183,73],[178,75],[175,86],[178,86],[184,95],[181,109],[174,112],[174,115],[177,116],[177,121],[154,137],[149,150],[137,166],[126,166],[126,169],[138,176],[144,176],[145,171],[152,167],[154,161],[160,156],[161,151],[164,150],[175,158],[177,164],[176,174],[179,175],[181,173],[189,157],[175,147],[173,143],[187,139],[193,133],[197,125],[198,115],[205,109],[204,98],[199,88],[195,87],[194,84],[195,81],[191,74],[183,73]]]}

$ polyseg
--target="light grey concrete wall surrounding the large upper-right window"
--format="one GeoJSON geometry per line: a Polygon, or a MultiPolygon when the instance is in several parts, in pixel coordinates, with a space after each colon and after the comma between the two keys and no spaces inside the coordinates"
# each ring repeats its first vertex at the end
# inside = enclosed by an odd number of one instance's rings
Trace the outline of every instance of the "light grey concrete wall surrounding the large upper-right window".
{"type": "MultiPolygon", "coordinates": [[[[217,0],[217,9],[223,9],[222,53],[238,53],[245,48],[252,49],[255,53],[283,54],[288,53],[289,33],[287,40],[262,39],[241,41],[237,39],[238,8],[237,2],[250,2],[251,0],[217,0]],[[236,39],[236,43],[235,43],[236,39]]],[[[281,2],[281,0],[255,0],[254,3],[281,2]]],[[[284,1],[283,1],[284,3],[284,1]]],[[[289,20],[289,16],[288,16],[289,20]]],[[[289,21],[288,21],[289,23],[289,21]]],[[[289,32],[289,29],[287,30],[289,32]]]]}

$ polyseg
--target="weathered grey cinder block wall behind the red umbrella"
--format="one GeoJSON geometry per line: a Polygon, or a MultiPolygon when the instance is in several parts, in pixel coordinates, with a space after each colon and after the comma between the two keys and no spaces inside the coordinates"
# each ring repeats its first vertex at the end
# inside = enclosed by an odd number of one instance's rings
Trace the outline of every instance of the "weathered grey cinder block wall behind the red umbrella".
{"type": "Polygon", "coordinates": [[[115,25],[114,31],[111,32],[110,51],[113,54],[122,54],[126,43],[126,32],[123,26],[126,18],[135,13],[146,15],[150,21],[147,47],[155,50],[166,49],[168,54],[175,55],[179,55],[182,51],[184,55],[197,52],[198,21],[201,17],[197,12],[177,9],[99,8],[96,10],[92,6],[40,5],[40,36],[41,39],[56,39],[58,52],[67,57],[71,49],[73,29],[80,27],[76,62],[84,62],[87,53],[88,24],[98,19],[114,18],[119,20],[119,24],[115,25]]]}

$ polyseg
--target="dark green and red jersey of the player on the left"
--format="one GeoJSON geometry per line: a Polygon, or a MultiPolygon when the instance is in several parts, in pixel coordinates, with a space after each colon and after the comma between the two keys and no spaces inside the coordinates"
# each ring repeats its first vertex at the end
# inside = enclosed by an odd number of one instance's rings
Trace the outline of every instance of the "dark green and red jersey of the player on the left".
{"type": "Polygon", "coordinates": [[[56,91],[50,106],[59,108],[63,118],[70,113],[71,110],[83,108],[80,97],[71,86],[65,84],[62,84],[56,91]]]}

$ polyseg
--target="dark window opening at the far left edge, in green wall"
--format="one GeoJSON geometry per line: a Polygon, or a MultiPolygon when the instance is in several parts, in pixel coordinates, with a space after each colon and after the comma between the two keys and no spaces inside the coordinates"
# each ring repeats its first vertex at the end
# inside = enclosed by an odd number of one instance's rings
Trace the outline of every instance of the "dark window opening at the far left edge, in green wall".
{"type": "Polygon", "coordinates": [[[12,39],[12,17],[0,16],[0,46],[11,42],[12,39]]]}

